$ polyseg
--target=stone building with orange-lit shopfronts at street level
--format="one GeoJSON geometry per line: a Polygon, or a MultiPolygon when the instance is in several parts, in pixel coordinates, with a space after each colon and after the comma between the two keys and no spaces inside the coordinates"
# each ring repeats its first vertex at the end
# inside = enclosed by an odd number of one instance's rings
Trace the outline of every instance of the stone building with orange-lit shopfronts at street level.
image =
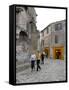
{"type": "Polygon", "coordinates": [[[66,21],[49,24],[41,31],[41,50],[47,58],[64,59],[66,54],[66,21]]]}

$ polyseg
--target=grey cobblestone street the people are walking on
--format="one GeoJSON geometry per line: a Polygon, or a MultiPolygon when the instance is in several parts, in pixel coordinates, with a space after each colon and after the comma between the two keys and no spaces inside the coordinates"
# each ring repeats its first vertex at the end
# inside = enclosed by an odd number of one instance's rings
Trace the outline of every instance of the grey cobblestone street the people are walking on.
{"type": "MultiPolygon", "coordinates": [[[[66,79],[65,60],[45,59],[44,64],[40,64],[41,70],[36,69],[31,72],[30,66],[27,69],[16,73],[16,83],[32,83],[32,82],[50,82],[63,81],[66,79]]],[[[19,65],[17,65],[17,68],[19,65]]]]}

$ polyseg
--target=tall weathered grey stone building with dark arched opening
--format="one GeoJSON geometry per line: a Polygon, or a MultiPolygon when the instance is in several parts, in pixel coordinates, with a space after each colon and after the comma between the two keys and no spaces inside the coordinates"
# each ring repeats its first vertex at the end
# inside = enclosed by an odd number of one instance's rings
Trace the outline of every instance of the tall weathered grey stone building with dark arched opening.
{"type": "Polygon", "coordinates": [[[37,50],[39,32],[33,7],[16,7],[16,59],[28,61],[32,51],[37,50]]]}

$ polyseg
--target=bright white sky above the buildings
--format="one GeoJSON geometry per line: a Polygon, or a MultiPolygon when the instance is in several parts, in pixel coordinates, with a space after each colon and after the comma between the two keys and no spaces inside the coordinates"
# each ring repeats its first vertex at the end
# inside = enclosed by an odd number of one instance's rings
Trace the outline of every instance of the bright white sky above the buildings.
{"type": "Polygon", "coordinates": [[[66,11],[64,9],[35,8],[37,30],[43,30],[50,23],[66,19],[66,11]]]}

